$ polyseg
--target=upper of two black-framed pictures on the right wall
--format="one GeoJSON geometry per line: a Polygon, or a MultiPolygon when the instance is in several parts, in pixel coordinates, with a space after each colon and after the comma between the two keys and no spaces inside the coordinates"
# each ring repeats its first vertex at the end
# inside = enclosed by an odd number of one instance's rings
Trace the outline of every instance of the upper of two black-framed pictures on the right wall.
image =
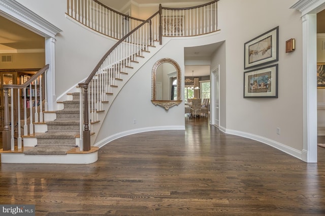
{"type": "Polygon", "coordinates": [[[279,26],[249,40],[244,45],[244,69],[278,61],[279,26]]]}

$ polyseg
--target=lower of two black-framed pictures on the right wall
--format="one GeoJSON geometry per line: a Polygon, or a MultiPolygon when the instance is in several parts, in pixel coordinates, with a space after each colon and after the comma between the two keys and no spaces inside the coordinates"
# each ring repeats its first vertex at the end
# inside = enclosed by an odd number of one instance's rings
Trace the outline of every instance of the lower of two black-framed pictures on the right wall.
{"type": "Polygon", "coordinates": [[[277,98],[278,64],[244,72],[244,98],[277,98]]]}

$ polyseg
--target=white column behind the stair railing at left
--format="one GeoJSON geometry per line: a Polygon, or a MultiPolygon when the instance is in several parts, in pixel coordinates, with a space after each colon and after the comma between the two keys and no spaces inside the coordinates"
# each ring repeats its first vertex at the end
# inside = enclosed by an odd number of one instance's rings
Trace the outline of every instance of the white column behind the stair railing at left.
{"type": "Polygon", "coordinates": [[[45,38],[45,63],[49,64],[46,74],[46,93],[47,107],[49,111],[56,109],[56,93],[55,93],[55,38],[45,38]]]}

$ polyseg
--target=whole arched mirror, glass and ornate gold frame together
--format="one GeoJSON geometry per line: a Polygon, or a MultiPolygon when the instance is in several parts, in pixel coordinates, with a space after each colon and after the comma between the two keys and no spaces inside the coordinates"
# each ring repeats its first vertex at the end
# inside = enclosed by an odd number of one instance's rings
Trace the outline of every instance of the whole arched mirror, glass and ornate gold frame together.
{"type": "Polygon", "coordinates": [[[157,61],[152,68],[152,100],[168,110],[181,101],[181,69],[177,62],[164,58],[157,61]]]}

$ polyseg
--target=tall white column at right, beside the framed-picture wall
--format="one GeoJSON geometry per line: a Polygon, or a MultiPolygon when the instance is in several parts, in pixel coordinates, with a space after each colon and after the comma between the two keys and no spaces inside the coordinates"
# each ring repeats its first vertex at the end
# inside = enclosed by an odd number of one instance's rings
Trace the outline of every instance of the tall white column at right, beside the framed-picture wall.
{"type": "Polygon", "coordinates": [[[302,160],[317,162],[316,14],[302,17],[303,24],[303,150],[302,160]]]}

